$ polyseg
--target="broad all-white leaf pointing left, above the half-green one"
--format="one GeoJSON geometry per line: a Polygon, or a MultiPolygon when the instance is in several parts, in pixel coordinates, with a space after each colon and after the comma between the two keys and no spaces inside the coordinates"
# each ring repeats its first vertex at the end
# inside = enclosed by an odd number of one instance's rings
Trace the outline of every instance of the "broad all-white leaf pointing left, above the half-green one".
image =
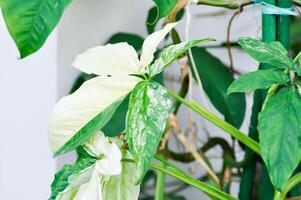
{"type": "Polygon", "coordinates": [[[135,49],[122,42],[91,48],[78,55],[72,65],[88,74],[125,76],[138,73],[139,59],[135,49]]]}

